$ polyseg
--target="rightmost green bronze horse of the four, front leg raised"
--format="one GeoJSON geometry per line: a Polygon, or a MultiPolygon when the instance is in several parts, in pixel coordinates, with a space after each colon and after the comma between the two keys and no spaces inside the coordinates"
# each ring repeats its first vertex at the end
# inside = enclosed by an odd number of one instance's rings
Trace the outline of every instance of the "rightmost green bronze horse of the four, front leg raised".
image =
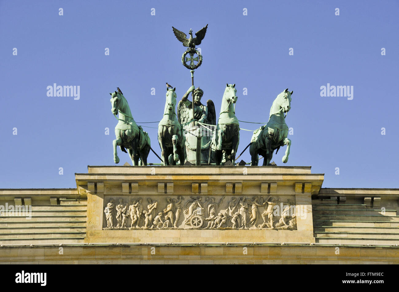
{"type": "MultiPolygon", "coordinates": [[[[264,157],[263,166],[270,164],[273,151],[279,151],[281,146],[287,145],[282,162],[288,161],[291,140],[287,138],[288,126],[285,123],[284,113],[291,109],[291,95],[288,88],[277,95],[270,108],[269,122],[253,132],[249,153],[251,154],[251,165],[258,165],[259,155],[264,157]]],[[[276,153],[277,153],[276,151],[276,153]]]]}

